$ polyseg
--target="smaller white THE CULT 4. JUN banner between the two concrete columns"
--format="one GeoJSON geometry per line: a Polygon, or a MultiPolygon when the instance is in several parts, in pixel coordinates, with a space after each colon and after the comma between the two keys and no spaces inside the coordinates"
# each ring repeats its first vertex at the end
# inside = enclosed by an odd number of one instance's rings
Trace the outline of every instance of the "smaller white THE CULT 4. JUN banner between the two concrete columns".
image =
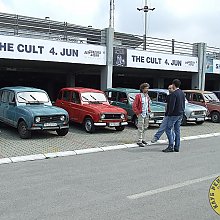
{"type": "Polygon", "coordinates": [[[128,49],[127,67],[198,72],[198,58],[128,49]]]}

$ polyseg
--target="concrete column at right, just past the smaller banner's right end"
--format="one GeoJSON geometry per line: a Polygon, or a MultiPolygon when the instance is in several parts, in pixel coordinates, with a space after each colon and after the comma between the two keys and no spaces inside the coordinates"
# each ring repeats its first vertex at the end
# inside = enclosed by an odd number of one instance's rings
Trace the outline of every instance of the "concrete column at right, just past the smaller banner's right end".
{"type": "Polygon", "coordinates": [[[192,75],[192,89],[205,89],[206,44],[197,43],[193,46],[194,55],[198,56],[198,73],[192,75]]]}

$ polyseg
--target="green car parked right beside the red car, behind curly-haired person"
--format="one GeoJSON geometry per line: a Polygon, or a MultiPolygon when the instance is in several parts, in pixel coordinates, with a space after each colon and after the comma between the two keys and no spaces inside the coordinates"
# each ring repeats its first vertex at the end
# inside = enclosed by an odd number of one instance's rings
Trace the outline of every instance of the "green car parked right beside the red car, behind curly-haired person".
{"type": "MultiPolygon", "coordinates": [[[[112,105],[125,109],[128,113],[128,121],[137,126],[137,116],[132,110],[132,104],[135,96],[140,93],[137,89],[111,88],[105,91],[105,94],[112,105]]],[[[150,124],[161,124],[165,114],[165,107],[154,102],[150,104],[150,124]]]]}

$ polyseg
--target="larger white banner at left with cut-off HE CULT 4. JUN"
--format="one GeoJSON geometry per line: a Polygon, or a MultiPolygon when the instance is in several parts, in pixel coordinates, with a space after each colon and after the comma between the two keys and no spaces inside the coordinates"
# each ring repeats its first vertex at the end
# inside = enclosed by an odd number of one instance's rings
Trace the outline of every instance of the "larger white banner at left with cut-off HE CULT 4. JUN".
{"type": "Polygon", "coordinates": [[[0,36],[0,58],[106,65],[106,47],[0,36]]]}

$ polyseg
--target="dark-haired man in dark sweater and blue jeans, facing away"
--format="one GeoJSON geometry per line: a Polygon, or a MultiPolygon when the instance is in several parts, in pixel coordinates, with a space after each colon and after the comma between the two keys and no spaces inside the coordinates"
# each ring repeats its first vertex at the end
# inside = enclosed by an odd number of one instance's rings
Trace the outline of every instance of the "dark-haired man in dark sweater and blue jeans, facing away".
{"type": "Polygon", "coordinates": [[[172,82],[174,92],[170,94],[167,102],[167,126],[166,135],[169,140],[169,145],[163,152],[179,152],[180,148],[180,125],[185,110],[185,95],[180,89],[181,81],[174,79],[172,82]],[[172,135],[172,129],[174,128],[175,133],[175,145],[172,135]]]}

